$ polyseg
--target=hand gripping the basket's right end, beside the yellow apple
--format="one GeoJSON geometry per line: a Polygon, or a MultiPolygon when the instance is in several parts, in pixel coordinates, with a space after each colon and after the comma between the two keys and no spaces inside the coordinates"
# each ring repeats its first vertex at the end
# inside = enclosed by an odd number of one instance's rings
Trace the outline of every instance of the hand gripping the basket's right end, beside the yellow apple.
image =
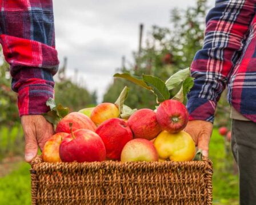
{"type": "Polygon", "coordinates": [[[184,130],[193,138],[195,146],[198,146],[198,149],[202,150],[203,155],[208,157],[213,124],[203,120],[191,120],[187,123],[184,130]]]}

